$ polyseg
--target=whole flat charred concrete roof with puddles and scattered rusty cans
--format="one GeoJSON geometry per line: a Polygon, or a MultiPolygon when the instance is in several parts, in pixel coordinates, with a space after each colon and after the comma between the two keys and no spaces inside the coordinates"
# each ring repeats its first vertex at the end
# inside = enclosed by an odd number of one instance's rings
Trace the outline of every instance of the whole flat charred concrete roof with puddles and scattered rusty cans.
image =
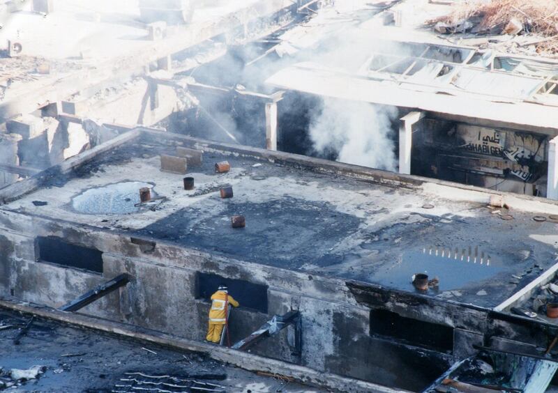
{"type": "Polygon", "coordinates": [[[308,275],[414,292],[412,275],[426,272],[439,278],[428,295],[479,307],[497,307],[555,269],[557,259],[552,201],[149,130],[7,187],[2,199],[8,203],[0,214],[63,220],[308,275]],[[195,190],[183,190],[185,175],[160,170],[160,154],[177,146],[205,152],[202,166],[188,169],[195,190]],[[232,169],[216,174],[223,160],[232,169]],[[226,185],[232,199],[220,198],[226,185]],[[134,211],[142,186],[167,199],[134,211]],[[502,195],[507,208],[487,208],[491,196],[502,195]],[[232,215],[244,215],[246,228],[233,229],[232,215]]]}

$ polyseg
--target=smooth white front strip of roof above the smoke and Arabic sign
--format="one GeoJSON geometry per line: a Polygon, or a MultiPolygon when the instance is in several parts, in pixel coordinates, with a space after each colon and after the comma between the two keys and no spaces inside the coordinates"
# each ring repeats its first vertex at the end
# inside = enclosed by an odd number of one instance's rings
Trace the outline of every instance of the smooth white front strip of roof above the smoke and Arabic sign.
{"type": "Polygon", "coordinates": [[[556,134],[558,111],[554,107],[527,102],[509,104],[478,100],[465,93],[459,96],[414,91],[393,84],[354,77],[323,66],[301,63],[284,68],[267,79],[266,83],[287,90],[324,95],[343,100],[356,100],[372,104],[417,108],[448,117],[460,116],[475,123],[486,119],[500,126],[520,130],[556,134]]]}

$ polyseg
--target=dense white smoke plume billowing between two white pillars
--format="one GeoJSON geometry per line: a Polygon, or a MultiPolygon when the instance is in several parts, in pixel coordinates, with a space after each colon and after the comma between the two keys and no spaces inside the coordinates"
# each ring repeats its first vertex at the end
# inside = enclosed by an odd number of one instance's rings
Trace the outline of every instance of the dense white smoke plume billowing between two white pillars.
{"type": "Polygon", "coordinates": [[[391,121],[397,116],[395,107],[325,98],[311,116],[310,139],[317,153],[338,152],[340,162],[395,171],[391,121]]]}

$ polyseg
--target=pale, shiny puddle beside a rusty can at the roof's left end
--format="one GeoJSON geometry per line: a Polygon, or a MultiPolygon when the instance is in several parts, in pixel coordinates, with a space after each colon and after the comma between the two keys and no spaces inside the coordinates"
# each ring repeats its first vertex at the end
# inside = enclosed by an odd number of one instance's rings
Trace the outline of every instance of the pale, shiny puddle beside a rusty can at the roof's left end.
{"type": "Polygon", "coordinates": [[[72,206],[78,212],[86,214],[137,213],[140,208],[135,205],[140,203],[142,187],[151,188],[151,198],[156,196],[152,184],[130,181],[86,190],[75,196],[72,206]]]}

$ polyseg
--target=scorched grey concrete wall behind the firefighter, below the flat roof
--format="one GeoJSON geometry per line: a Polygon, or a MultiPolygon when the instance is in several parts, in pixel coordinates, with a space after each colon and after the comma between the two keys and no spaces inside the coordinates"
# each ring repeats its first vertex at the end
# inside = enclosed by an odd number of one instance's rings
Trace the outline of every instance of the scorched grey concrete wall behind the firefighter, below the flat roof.
{"type": "Polygon", "coordinates": [[[129,237],[117,233],[5,211],[0,212],[0,228],[7,233],[0,242],[8,250],[0,258],[0,270],[9,277],[0,279],[3,296],[60,307],[100,282],[128,272],[133,282],[80,313],[202,341],[210,305],[195,299],[195,275],[214,273],[269,286],[268,314],[242,308],[232,314],[233,343],[274,314],[285,314],[289,309],[301,311],[301,356],[292,355],[290,328],[257,344],[252,349],[257,355],[410,390],[428,383],[451,361],[451,355],[433,350],[417,352],[413,346],[371,337],[370,309],[359,305],[339,279],[244,263],[160,242],[152,252],[143,252],[129,237]],[[103,275],[36,261],[34,238],[23,233],[57,236],[103,251],[103,275]],[[409,362],[401,364],[395,358],[386,362],[379,353],[407,357],[409,362]],[[416,370],[423,357],[432,362],[430,371],[416,370]],[[399,378],[402,373],[411,377],[403,381],[399,378]]]}

